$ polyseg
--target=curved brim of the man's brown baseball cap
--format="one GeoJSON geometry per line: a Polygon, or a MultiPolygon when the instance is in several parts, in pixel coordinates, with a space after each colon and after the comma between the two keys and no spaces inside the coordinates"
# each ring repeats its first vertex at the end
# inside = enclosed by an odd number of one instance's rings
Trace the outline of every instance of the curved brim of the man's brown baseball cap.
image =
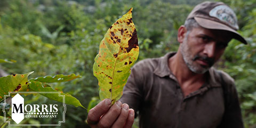
{"type": "Polygon", "coordinates": [[[218,30],[227,30],[230,31],[232,33],[234,33],[234,37],[235,39],[237,39],[238,41],[247,44],[247,42],[245,41],[244,37],[242,37],[239,33],[237,33],[236,30],[222,24],[216,21],[212,21],[212,20],[208,20],[205,18],[201,18],[201,17],[194,17],[196,22],[202,26],[203,28],[207,28],[207,29],[218,29],[218,30]]]}

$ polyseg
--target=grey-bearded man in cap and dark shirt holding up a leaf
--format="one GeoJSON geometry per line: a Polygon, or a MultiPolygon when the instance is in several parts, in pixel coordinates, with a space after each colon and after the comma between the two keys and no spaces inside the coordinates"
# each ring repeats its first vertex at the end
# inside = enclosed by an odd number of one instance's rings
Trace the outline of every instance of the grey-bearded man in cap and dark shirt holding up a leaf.
{"type": "Polygon", "coordinates": [[[92,127],[243,127],[234,79],[212,66],[235,38],[237,18],[222,2],[203,2],[178,30],[177,53],[132,68],[121,101],[105,99],[90,110],[92,127]],[[129,106],[132,109],[129,109],[129,106]]]}

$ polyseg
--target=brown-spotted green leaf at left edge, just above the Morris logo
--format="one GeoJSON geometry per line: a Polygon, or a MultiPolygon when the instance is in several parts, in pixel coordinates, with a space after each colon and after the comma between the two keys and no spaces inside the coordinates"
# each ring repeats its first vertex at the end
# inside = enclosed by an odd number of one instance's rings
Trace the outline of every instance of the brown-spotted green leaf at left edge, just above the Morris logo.
{"type": "Polygon", "coordinates": [[[28,76],[32,73],[34,73],[34,71],[26,74],[0,77],[0,101],[4,98],[4,95],[7,95],[9,92],[26,89],[28,85],[28,76]]]}

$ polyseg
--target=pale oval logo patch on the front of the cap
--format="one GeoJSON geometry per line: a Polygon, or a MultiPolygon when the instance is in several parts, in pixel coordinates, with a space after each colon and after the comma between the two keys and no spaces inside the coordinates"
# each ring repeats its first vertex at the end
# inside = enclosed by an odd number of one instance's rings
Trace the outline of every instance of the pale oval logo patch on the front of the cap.
{"type": "Polygon", "coordinates": [[[214,7],[209,15],[211,17],[218,18],[219,20],[226,22],[229,26],[238,29],[236,14],[230,7],[226,5],[219,5],[214,7]]]}

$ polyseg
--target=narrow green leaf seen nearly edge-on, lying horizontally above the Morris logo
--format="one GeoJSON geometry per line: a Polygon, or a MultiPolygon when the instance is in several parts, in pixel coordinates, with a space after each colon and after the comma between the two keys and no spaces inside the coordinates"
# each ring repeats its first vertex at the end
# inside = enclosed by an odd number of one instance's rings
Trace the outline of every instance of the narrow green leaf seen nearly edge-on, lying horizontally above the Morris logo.
{"type": "Polygon", "coordinates": [[[37,77],[35,79],[29,79],[29,81],[46,82],[46,83],[67,82],[79,77],[81,76],[79,75],[76,76],[75,74],[70,74],[70,75],[61,74],[61,75],[55,75],[54,77],[52,76],[37,77]]]}

